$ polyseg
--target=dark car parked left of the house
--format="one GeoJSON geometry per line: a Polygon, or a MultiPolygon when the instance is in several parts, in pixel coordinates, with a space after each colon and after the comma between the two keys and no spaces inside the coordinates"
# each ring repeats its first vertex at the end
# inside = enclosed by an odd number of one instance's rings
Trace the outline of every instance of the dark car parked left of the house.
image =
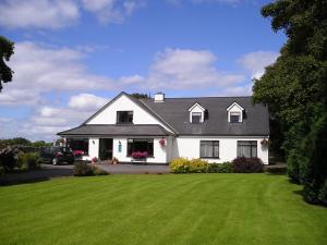
{"type": "Polygon", "coordinates": [[[40,160],[43,162],[49,162],[53,166],[62,162],[72,164],[74,162],[74,155],[69,147],[50,146],[43,147],[39,152],[40,160]]]}

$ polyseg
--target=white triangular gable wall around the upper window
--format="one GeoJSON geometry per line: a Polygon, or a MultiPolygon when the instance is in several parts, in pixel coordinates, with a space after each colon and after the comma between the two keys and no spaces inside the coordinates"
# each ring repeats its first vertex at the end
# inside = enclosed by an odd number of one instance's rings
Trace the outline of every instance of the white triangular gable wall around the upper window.
{"type": "Polygon", "coordinates": [[[87,124],[116,124],[117,123],[117,111],[133,111],[133,123],[134,124],[159,124],[167,131],[171,132],[166,125],[159,122],[155,117],[146,112],[138,105],[133,102],[125,95],[119,97],[104,111],[92,119],[87,124]]]}

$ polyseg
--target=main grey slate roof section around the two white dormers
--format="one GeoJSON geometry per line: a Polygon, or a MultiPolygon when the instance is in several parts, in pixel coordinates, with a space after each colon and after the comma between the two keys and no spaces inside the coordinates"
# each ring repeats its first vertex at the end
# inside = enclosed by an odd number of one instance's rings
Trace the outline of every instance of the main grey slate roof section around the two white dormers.
{"type": "Polygon", "coordinates": [[[155,102],[154,99],[141,101],[175,128],[179,135],[269,135],[267,107],[253,106],[252,97],[166,98],[164,102],[155,102]],[[187,109],[196,102],[207,111],[207,118],[201,124],[190,123],[187,109]],[[233,102],[238,102],[245,109],[242,123],[228,122],[227,108],[233,102]]]}

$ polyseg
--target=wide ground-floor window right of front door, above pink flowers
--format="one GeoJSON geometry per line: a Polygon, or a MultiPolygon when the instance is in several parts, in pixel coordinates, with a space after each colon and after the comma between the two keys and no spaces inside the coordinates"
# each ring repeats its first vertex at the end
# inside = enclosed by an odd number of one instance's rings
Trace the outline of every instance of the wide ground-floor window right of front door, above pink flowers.
{"type": "Polygon", "coordinates": [[[154,139],[152,138],[129,138],[128,139],[128,157],[133,152],[146,151],[148,157],[154,156],[154,139]]]}

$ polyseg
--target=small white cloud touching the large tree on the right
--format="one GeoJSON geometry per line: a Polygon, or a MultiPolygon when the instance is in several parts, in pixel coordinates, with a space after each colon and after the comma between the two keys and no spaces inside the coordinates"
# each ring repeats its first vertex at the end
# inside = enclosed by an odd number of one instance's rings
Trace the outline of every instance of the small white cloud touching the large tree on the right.
{"type": "Polygon", "coordinates": [[[238,62],[251,73],[252,78],[259,78],[265,68],[272,64],[279,53],[274,51],[257,51],[242,56],[238,62]]]}

